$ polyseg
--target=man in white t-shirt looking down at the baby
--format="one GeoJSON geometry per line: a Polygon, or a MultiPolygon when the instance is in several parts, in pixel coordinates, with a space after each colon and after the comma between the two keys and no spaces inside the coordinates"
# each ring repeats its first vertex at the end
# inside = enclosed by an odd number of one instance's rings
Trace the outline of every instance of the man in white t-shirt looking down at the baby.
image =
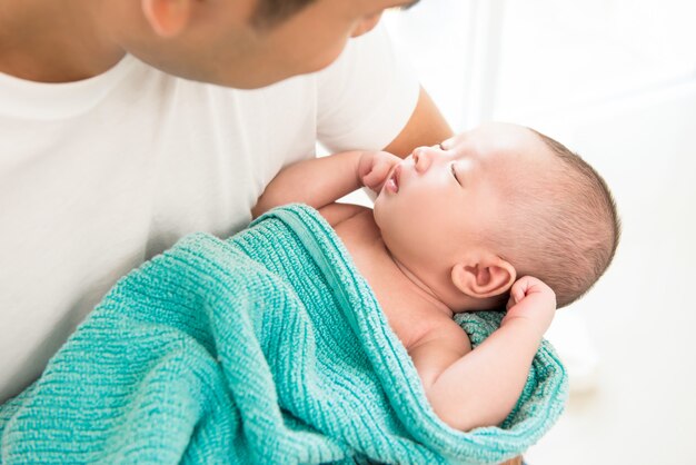
{"type": "Polygon", "coordinates": [[[406,155],[449,137],[384,31],[341,55],[410,3],[2,1],[0,403],[118,277],[243,227],[317,140],[406,155]]]}

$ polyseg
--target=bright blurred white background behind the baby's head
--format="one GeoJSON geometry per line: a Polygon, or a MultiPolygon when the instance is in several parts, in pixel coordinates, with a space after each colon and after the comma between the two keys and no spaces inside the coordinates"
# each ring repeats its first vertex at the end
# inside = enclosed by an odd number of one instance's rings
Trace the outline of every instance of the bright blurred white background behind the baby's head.
{"type": "Polygon", "coordinates": [[[548,334],[570,400],[526,461],[696,463],[696,2],[422,0],[386,22],[455,131],[534,127],[618,204],[613,266],[548,334]]]}

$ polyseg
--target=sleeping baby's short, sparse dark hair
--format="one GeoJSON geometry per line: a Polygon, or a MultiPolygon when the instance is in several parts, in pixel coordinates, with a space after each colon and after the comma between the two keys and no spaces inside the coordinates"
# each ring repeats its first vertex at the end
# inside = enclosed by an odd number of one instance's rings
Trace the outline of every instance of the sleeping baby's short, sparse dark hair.
{"type": "MultiPolygon", "coordinates": [[[[513,201],[518,276],[531,275],[556,293],[558,308],[587,293],[612,263],[620,237],[616,202],[599,174],[563,144],[536,133],[556,164],[513,201]],[[523,231],[521,237],[519,233],[523,231]]],[[[511,249],[510,249],[511,247],[511,249]]]]}

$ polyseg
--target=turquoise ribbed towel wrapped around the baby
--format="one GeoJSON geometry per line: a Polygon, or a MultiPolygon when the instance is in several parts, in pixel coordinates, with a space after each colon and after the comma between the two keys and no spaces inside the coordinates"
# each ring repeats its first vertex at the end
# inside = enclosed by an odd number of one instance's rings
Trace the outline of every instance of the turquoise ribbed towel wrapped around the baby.
{"type": "MultiPolygon", "coordinates": [[[[501,315],[460,315],[479,344],[501,315]]],[[[306,206],[205,234],[121,279],[0,407],[2,463],[490,464],[560,415],[548,343],[500,427],[461,433],[418,375],[332,229],[306,206]]]]}

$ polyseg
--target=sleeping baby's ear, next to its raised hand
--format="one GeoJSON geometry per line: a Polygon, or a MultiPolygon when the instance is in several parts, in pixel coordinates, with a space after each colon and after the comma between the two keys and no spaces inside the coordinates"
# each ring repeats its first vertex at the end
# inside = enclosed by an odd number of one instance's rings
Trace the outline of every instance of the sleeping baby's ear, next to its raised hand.
{"type": "Polygon", "coordinates": [[[451,269],[453,284],[474,298],[499,296],[509,290],[516,278],[515,267],[497,256],[474,264],[458,263],[451,269]]]}

